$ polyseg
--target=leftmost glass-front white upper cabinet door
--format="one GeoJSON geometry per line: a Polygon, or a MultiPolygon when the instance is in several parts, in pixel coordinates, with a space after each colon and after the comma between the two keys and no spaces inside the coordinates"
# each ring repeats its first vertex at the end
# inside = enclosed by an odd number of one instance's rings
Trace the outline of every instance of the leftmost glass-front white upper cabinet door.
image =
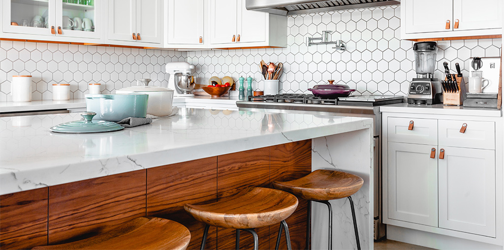
{"type": "Polygon", "coordinates": [[[2,6],[4,32],[54,36],[50,29],[51,26],[55,26],[54,2],[4,0],[0,5],[2,6]],[[42,17],[42,22],[38,22],[37,25],[37,22],[34,22],[34,20],[40,20],[38,17],[42,17]],[[45,24],[46,19],[47,25],[45,24]],[[15,24],[13,25],[12,22],[15,24]]]}

